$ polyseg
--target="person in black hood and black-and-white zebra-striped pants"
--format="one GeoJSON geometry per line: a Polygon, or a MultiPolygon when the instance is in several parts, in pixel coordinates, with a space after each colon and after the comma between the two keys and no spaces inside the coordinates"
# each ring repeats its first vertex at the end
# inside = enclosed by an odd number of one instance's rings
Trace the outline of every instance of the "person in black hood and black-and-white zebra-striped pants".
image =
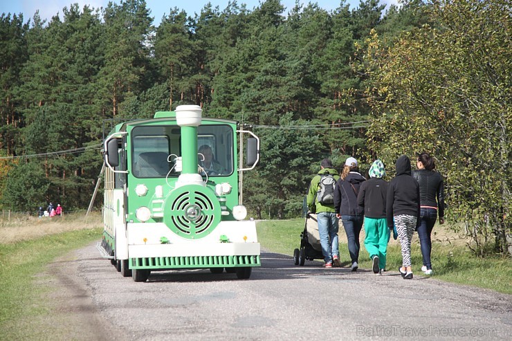
{"type": "Polygon", "coordinates": [[[387,227],[396,225],[402,249],[402,266],[399,272],[404,279],[412,279],[411,239],[420,223],[419,184],[411,175],[411,162],[402,155],[396,160],[396,176],[387,187],[387,227]]]}

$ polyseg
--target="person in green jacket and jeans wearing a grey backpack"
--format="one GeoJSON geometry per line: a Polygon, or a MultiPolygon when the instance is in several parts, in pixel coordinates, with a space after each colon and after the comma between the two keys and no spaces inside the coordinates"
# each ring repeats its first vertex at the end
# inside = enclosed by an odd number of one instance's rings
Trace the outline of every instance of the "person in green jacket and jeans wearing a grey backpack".
{"type": "Polygon", "coordinates": [[[310,212],[316,213],[324,268],[332,268],[333,264],[341,266],[338,253],[339,225],[334,209],[334,186],[339,178],[331,160],[324,158],[320,163],[320,171],[311,180],[306,199],[310,212]]]}

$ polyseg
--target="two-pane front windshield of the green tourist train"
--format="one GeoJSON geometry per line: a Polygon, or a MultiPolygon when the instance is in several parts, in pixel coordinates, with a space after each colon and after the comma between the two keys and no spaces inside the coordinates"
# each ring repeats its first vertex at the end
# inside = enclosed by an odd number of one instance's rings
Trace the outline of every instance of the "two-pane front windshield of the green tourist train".
{"type": "MultiPolygon", "coordinates": [[[[233,172],[233,129],[229,125],[201,125],[197,129],[198,172],[229,176],[233,172]]],[[[131,133],[132,173],[137,178],[177,177],[174,160],[182,156],[177,125],[134,127],[131,133]]]]}

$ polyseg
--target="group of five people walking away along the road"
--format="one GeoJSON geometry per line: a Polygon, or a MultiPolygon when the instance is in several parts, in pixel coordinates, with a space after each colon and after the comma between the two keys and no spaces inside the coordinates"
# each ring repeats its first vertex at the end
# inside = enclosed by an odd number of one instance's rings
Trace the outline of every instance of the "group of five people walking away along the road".
{"type": "Polygon", "coordinates": [[[399,239],[404,279],[412,279],[411,241],[414,231],[419,234],[423,266],[426,275],[432,275],[430,254],[431,233],[437,216],[444,223],[444,183],[435,163],[427,153],[419,154],[417,170],[412,171],[408,156],[396,160],[396,176],[387,183],[385,166],[375,160],[368,177],[359,172],[355,158],[347,158],[341,175],[333,169],[331,160],[320,163],[320,171],[311,180],[307,205],[316,212],[324,267],[341,266],[338,250],[338,221],[341,219],[347,234],[351,270],[358,269],[359,235],[365,228],[364,245],[372,260],[372,270],[381,274],[386,269],[387,243],[393,234],[399,239]],[[324,179],[333,178],[333,200],[325,201],[324,179]],[[322,192],[322,199],[320,199],[322,192]]]}

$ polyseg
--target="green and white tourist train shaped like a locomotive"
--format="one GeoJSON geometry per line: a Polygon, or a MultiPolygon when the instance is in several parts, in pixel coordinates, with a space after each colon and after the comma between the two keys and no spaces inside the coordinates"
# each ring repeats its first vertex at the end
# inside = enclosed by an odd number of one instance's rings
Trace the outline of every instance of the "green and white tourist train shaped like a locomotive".
{"type": "Polygon", "coordinates": [[[116,125],[104,139],[98,250],[135,282],[152,271],[201,268],[248,279],[260,266],[240,183],[259,161],[259,138],[201,114],[196,105],[158,111],[116,125]]]}

